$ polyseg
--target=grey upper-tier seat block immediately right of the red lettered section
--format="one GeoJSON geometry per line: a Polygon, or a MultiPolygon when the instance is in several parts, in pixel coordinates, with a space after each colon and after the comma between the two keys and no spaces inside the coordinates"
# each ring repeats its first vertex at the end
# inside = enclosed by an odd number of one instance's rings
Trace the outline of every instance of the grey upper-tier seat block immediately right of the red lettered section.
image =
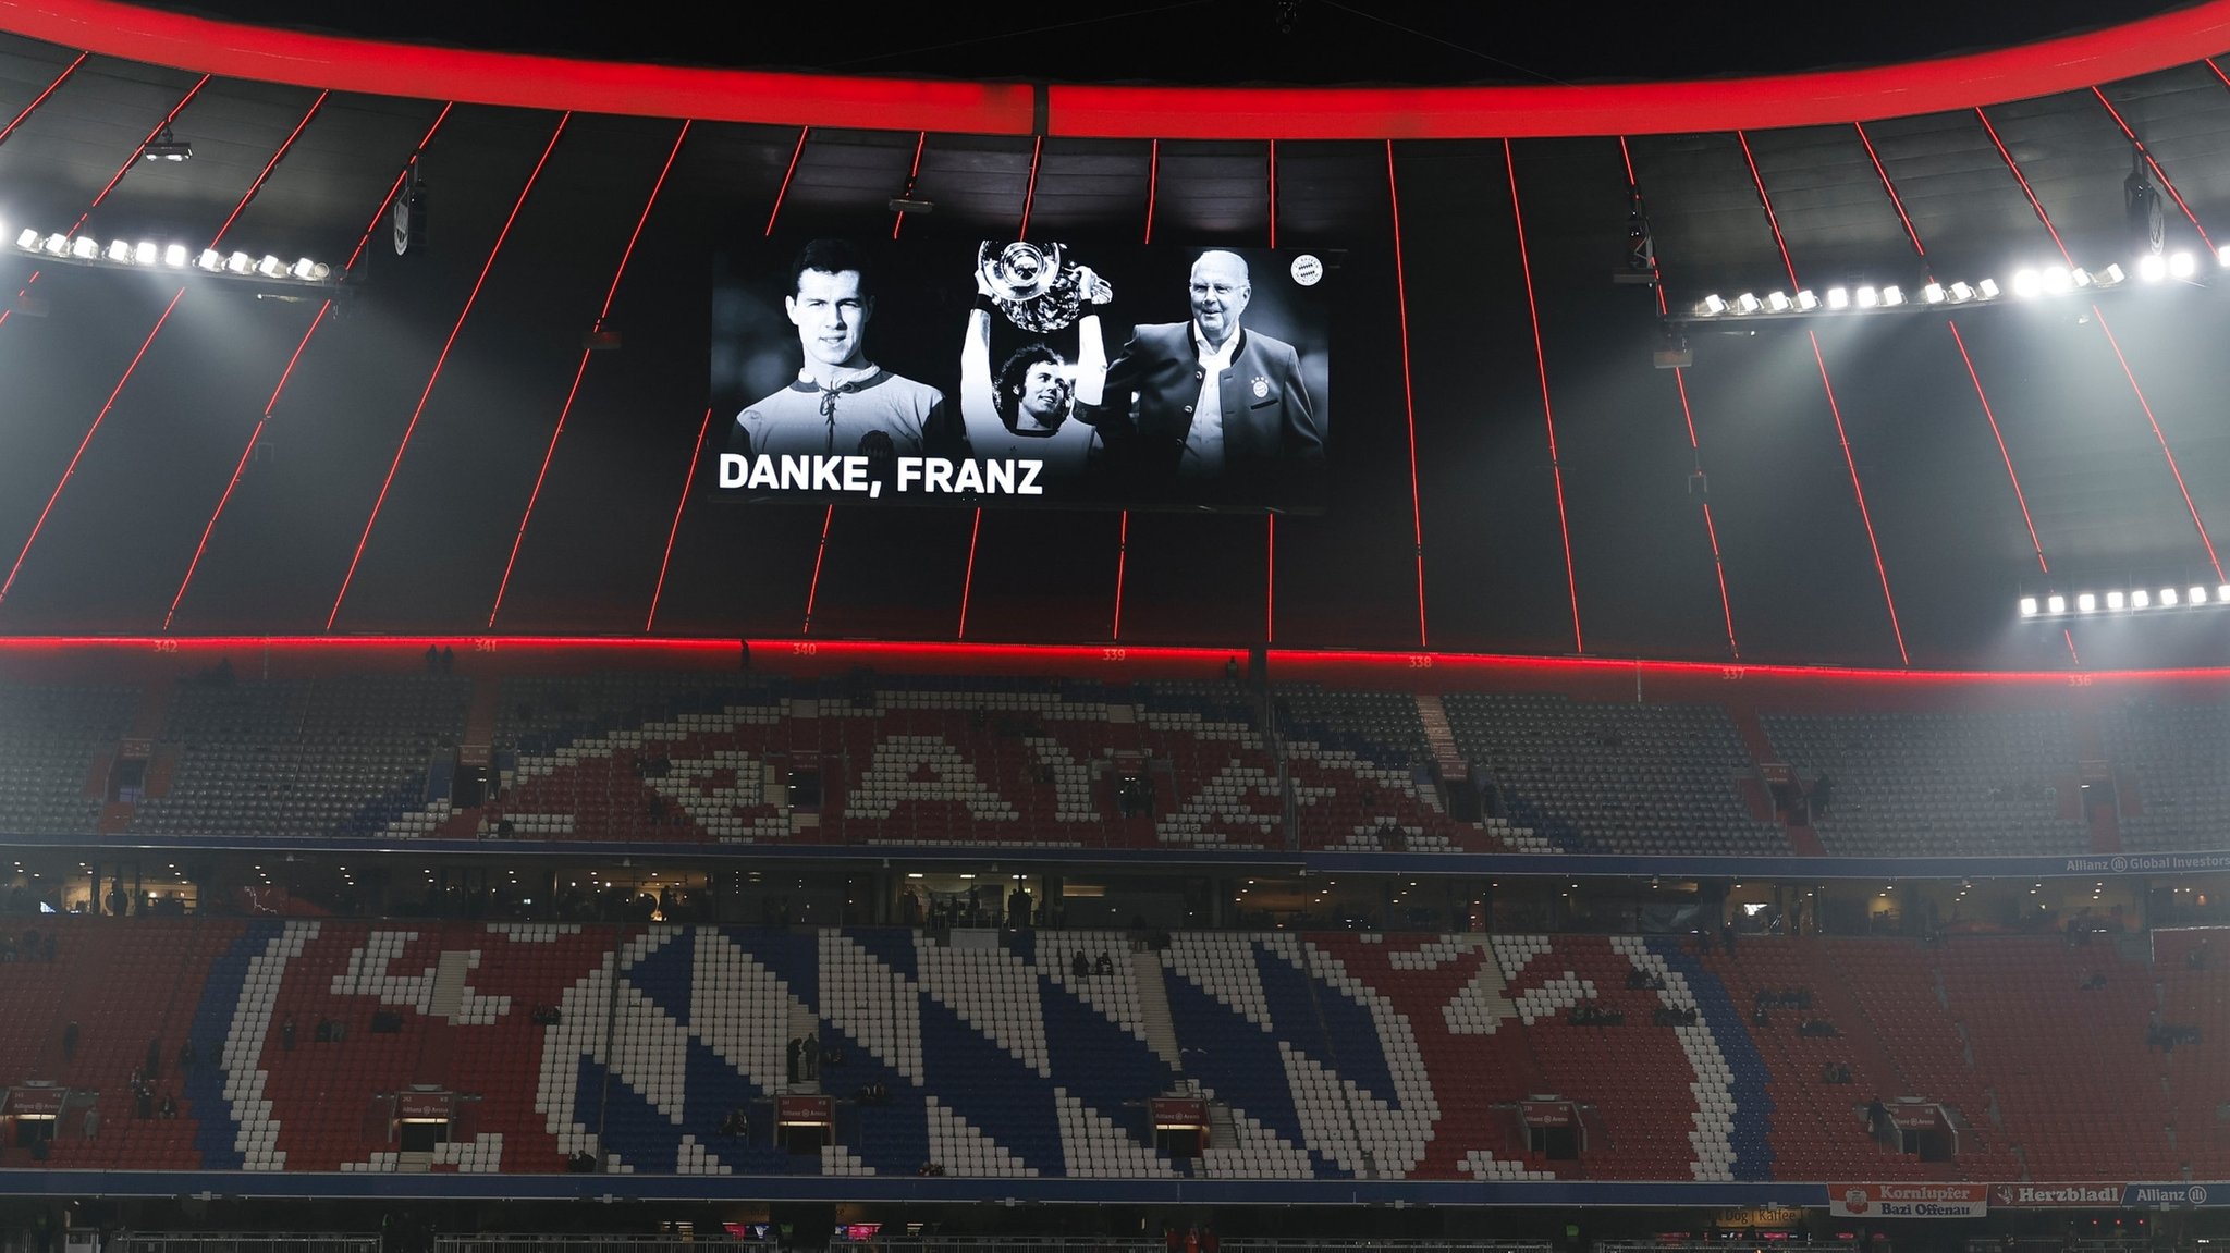
{"type": "Polygon", "coordinates": [[[1786,854],[1788,834],[1735,789],[1755,771],[1715,705],[1597,705],[1454,691],[1456,747],[1510,818],[1570,852],[1786,854]]]}

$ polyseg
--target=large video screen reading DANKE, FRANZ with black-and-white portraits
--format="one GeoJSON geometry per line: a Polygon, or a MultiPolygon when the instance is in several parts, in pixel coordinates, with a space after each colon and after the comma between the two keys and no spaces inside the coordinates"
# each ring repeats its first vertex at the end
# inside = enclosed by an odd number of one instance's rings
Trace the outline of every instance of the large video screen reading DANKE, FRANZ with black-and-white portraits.
{"type": "Polygon", "coordinates": [[[714,265],[723,499],[1325,506],[1338,254],[814,234],[714,265]]]}

